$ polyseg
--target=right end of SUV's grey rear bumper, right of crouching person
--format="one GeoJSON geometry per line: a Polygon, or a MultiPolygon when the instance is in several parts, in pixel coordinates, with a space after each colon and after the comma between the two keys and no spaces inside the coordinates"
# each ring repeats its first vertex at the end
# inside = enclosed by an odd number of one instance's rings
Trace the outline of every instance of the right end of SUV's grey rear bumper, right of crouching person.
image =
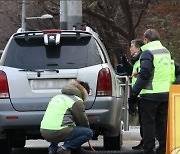
{"type": "Polygon", "coordinates": [[[96,97],[96,102],[86,111],[92,128],[103,130],[103,134],[116,136],[121,126],[122,98],[96,97]]]}

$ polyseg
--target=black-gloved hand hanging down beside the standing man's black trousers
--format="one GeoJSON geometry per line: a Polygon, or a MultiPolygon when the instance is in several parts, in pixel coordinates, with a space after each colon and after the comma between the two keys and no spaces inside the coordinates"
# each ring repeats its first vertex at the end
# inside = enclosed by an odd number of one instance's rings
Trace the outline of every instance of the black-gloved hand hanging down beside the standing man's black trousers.
{"type": "Polygon", "coordinates": [[[128,98],[128,104],[129,104],[129,114],[131,116],[136,116],[138,113],[137,110],[137,95],[136,94],[132,94],[129,98],[128,98]]]}

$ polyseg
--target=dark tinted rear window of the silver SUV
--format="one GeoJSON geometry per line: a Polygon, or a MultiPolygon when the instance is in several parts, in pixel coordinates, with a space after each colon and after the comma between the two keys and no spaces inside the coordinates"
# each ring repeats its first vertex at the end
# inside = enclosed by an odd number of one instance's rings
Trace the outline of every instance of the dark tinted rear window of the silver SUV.
{"type": "Polygon", "coordinates": [[[78,69],[101,64],[91,36],[62,36],[59,45],[44,44],[43,36],[15,36],[2,64],[20,69],[78,69]]]}

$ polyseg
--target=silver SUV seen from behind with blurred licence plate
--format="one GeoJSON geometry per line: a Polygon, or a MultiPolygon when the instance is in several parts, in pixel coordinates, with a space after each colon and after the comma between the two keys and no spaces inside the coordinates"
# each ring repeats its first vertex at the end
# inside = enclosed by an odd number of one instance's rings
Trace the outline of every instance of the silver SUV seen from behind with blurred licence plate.
{"type": "Polygon", "coordinates": [[[83,30],[15,33],[0,61],[0,147],[24,147],[41,139],[39,126],[50,99],[71,79],[88,82],[85,103],[94,139],[104,148],[122,145],[123,89],[97,33],[83,30]]]}

